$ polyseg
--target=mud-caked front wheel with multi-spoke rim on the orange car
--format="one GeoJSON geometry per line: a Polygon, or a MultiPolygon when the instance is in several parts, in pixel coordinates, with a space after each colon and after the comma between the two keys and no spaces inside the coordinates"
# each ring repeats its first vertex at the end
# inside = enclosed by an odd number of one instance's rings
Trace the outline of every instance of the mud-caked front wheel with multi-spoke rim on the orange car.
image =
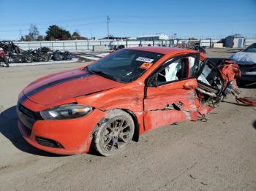
{"type": "Polygon", "coordinates": [[[134,122],[127,112],[110,111],[94,133],[93,147],[101,155],[116,155],[127,148],[134,130],[134,122]]]}

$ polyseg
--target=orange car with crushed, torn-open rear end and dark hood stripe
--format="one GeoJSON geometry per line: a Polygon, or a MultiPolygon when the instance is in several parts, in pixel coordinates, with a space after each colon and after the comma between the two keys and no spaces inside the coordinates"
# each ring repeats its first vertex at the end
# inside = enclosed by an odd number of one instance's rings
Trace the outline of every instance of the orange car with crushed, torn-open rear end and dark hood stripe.
{"type": "Polygon", "coordinates": [[[236,63],[216,64],[195,50],[121,49],[31,82],[18,97],[18,128],[48,152],[116,155],[149,130],[206,120],[239,76],[236,63]]]}

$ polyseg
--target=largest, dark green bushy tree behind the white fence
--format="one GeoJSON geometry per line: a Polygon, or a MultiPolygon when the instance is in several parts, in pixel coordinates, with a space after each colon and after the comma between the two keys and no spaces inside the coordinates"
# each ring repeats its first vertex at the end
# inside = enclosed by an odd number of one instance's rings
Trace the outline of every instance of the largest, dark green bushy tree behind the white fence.
{"type": "Polygon", "coordinates": [[[53,25],[49,26],[46,31],[46,40],[69,40],[71,39],[71,34],[69,31],[64,30],[63,28],[53,25]]]}

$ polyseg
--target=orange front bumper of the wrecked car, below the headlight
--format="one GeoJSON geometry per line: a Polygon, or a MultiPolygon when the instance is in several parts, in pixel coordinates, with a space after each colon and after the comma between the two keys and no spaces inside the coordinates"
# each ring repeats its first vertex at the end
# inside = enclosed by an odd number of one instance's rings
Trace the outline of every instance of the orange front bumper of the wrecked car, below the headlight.
{"type": "Polygon", "coordinates": [[[22,115],[27,117],[26,114],[18,114],[18,128],[29,144],[47,152],[75,155],[89,152],[91,133],[99,120],[105,117],[105,112],[94,109],[85,117],[71,120],[35,120],[31,127],[24,122],[22,115]],[[51,144],[42,144],[42,139],[50,140],[51,144]]]}

